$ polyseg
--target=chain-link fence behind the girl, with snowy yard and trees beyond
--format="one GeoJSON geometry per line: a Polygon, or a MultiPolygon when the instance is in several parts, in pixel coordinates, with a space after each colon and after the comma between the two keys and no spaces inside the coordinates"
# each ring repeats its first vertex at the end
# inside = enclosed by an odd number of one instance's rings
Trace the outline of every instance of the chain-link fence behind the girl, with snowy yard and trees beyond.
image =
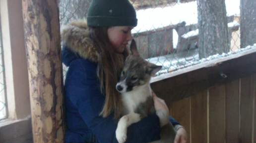
{"type": "MultiPolygon", "coordinates": [[[[61,25],[74,19],[86,19],[90,2],[60,0],[61,25]]],[[[256,47],[255,0],[130,2],[138,19],[132,36],[144,59],[163,66],[158,75],[256,47]],[[246,17],[245,20],[241,20],[241,16],[246,17]],[[254,32],[244,36],[245,40],[240,34],[242,25],[247,33],[254,32]]],[[[66,70],[64,67],[64,75],[66,70]]]]}

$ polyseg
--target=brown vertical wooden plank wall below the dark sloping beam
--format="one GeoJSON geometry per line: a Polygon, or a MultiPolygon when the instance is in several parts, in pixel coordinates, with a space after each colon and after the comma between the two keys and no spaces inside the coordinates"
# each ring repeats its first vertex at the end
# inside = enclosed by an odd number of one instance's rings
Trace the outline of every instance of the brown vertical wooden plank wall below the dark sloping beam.
{"type": "Polygon", "coordinates": [[[187,143],[256,143],[256,74],[174,102],[187,143]]]}

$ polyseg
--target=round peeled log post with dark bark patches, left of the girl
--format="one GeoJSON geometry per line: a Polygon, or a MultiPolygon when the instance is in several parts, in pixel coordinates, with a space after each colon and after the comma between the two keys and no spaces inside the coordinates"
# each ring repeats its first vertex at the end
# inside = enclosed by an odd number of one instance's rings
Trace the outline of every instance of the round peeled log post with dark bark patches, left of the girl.
{"type": "Polygon", "coordinates": [[[64,143],[59,0],[22,0],[34,143],[64,143]]]}

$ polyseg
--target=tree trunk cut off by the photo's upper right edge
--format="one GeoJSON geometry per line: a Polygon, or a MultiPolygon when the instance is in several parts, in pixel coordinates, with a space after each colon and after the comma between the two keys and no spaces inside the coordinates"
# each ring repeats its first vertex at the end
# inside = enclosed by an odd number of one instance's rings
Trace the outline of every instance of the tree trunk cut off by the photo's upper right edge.
{"type": "Polygon", "coordinates": [[[240,1],[241,48],[256,43],[256,0],[240,1]]]}

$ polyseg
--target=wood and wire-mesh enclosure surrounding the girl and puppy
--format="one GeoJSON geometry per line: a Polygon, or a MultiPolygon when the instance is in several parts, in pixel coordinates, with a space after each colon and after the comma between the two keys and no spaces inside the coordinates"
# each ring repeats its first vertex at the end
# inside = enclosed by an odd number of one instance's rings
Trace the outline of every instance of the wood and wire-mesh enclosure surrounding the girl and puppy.
{"type": "MultiPolygon", "coordinates": [[[[187,143],[256,143],[256,1],[129,0],[140,55],[187,143]]],[[[91,0],[0,1],[0,143],[64,143],[62,27],[91,0]]]]}

